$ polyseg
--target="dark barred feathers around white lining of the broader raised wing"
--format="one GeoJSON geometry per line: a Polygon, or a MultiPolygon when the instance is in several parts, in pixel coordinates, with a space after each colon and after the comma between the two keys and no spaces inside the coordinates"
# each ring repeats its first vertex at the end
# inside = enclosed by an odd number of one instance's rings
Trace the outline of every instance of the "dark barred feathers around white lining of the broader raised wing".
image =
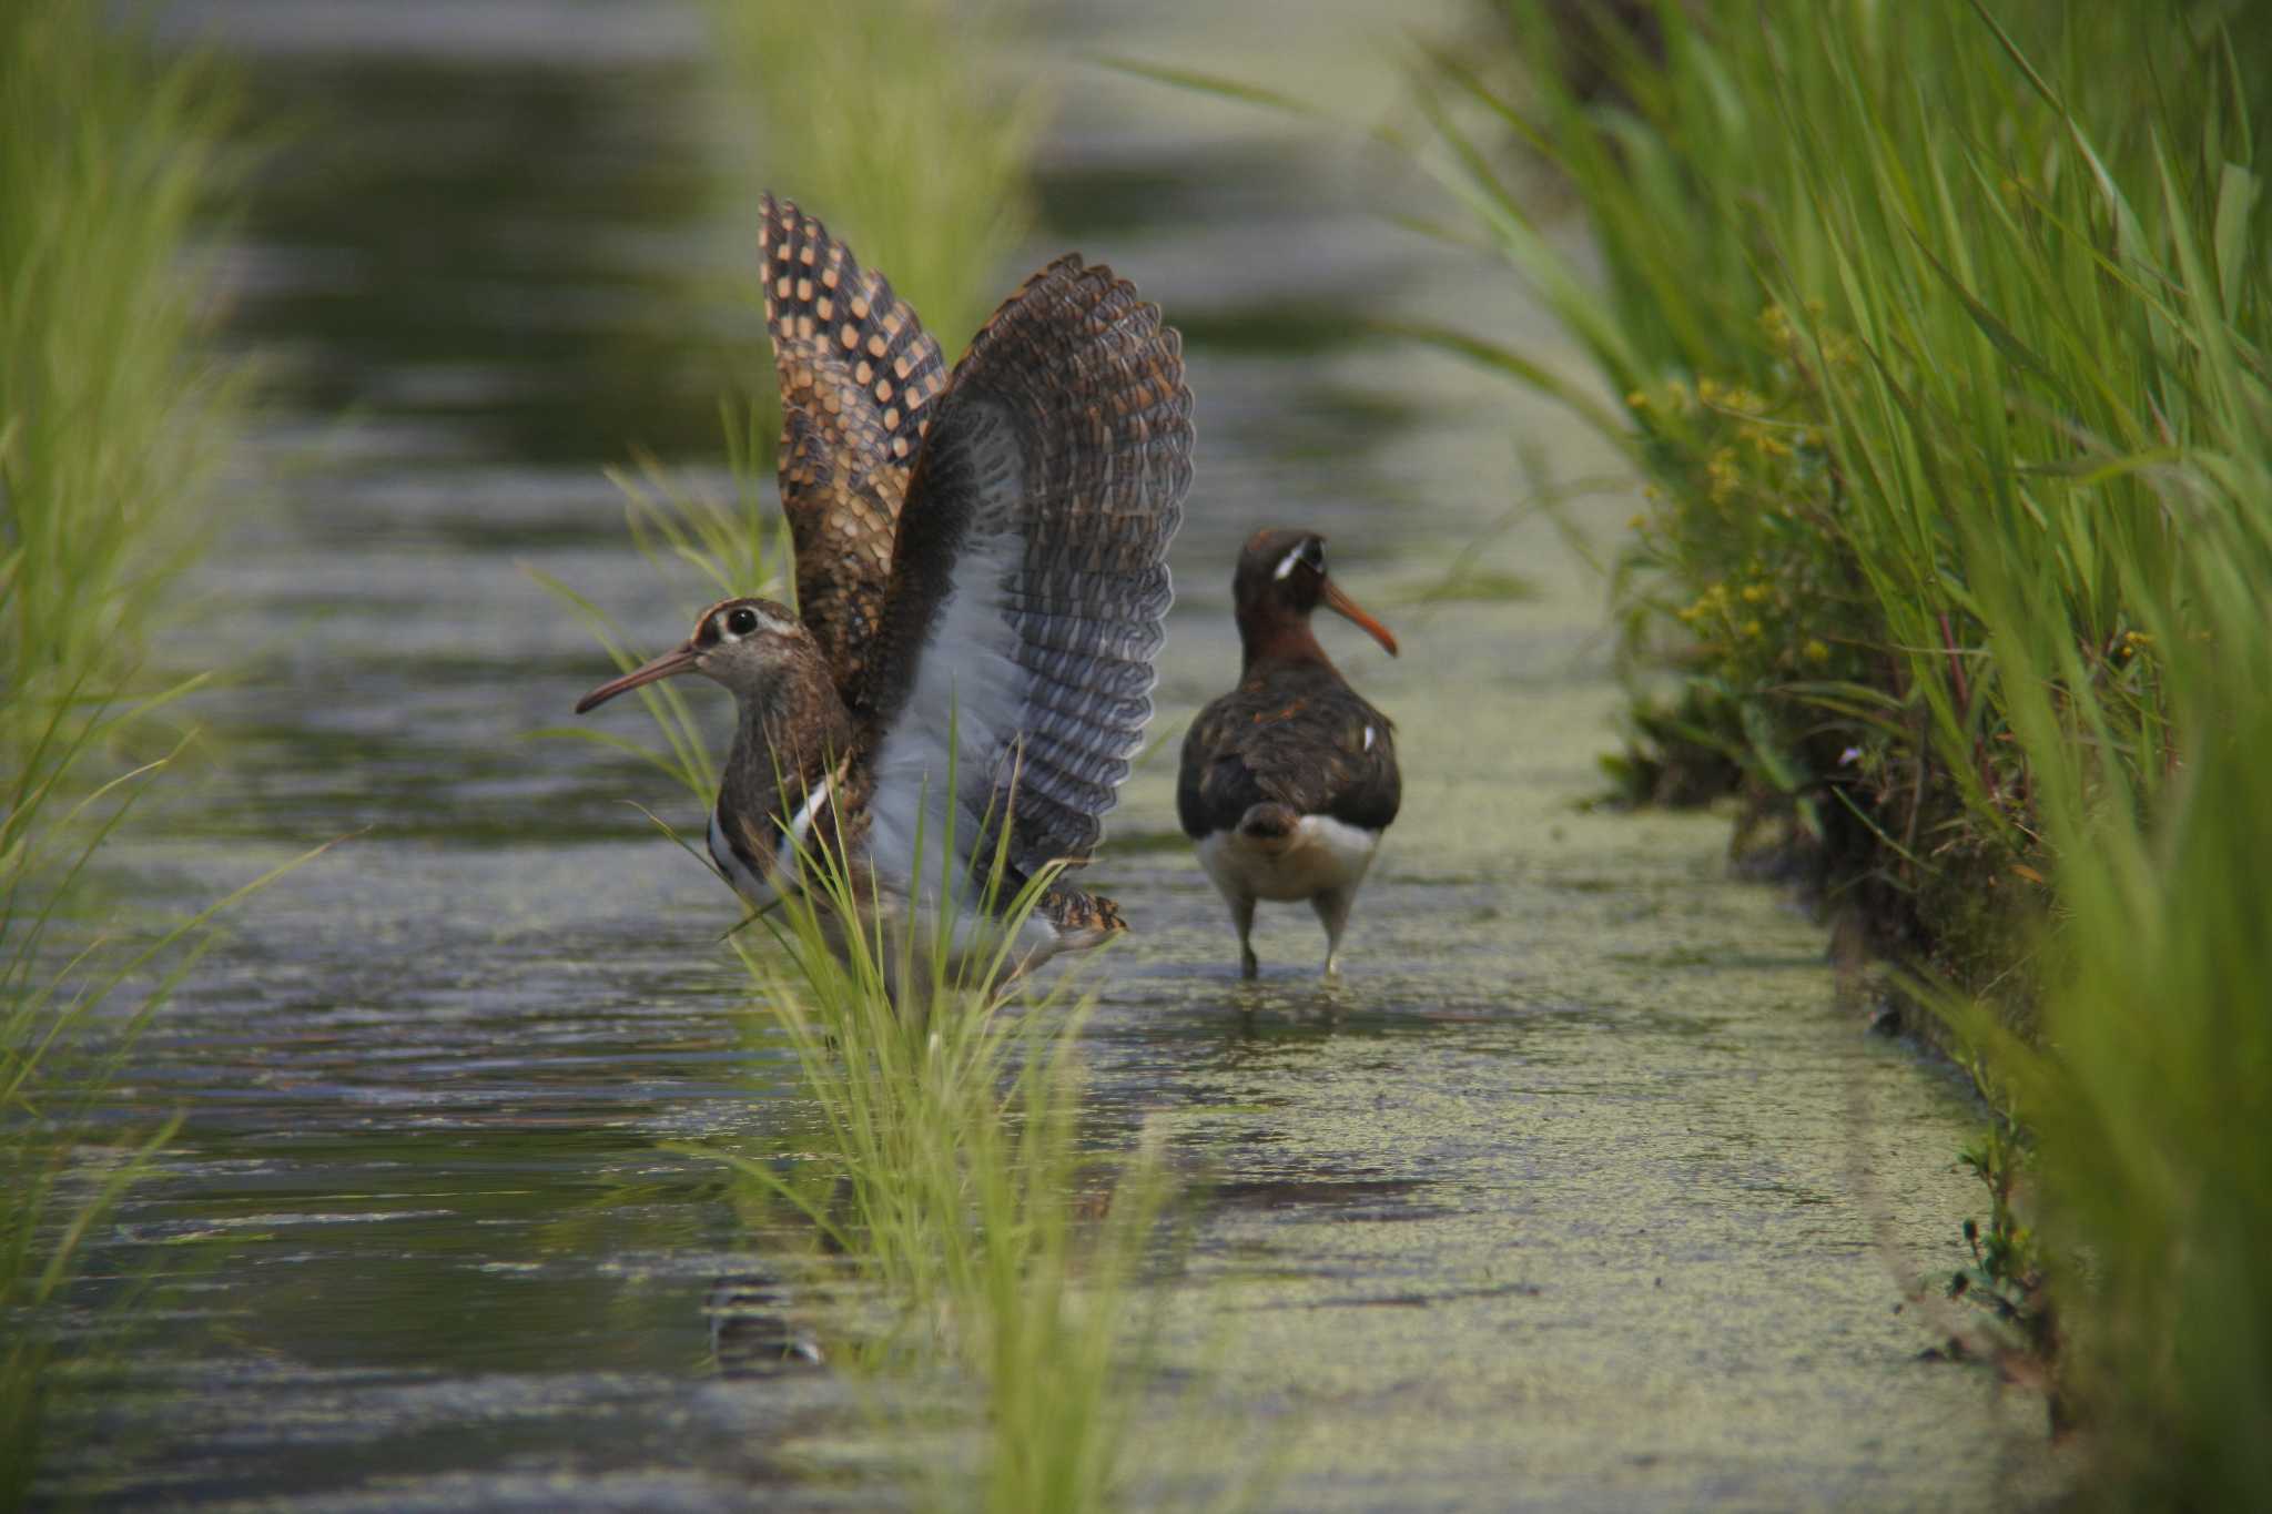
{"type": "Polygon", "coordinates": [[[904,713],[922,645],[959,592],[954,567],[1006,552],[997,608],[1011,633],[995,651],[1025,681],[1025,710],[1016,751],[988,754],[995,772],[963,779],[961,822],[979,833],[988,813],[1011,815],[1022,874],[1086,860],[1143,745],[1175,597],[1168,540],[1191,488],[1181,336],[1131,284],[1068,254],[979,329],[936,418],[911,490],[922,511],[900,524],[866,715],[884,726],[904,713]]]}

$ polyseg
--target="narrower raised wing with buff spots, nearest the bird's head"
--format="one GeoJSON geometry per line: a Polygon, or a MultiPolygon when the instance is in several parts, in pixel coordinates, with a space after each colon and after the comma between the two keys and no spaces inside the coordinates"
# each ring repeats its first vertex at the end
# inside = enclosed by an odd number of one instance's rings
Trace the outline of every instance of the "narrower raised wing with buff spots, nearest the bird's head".
{"type": "Polygon", "coordinates": [[[782,384],[782,511],[797,547],[797,615],[850,699],[882,620],[900,502],[947,363],[891,281],[795,204],[766,195],[757,245],[782,384]]]}

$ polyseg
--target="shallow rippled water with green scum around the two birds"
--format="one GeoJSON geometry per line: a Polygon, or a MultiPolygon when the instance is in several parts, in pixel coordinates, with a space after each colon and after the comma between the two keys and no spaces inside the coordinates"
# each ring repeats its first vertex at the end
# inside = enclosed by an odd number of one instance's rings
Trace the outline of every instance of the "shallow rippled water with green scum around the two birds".
{"type": "MultiPolygon", "coordinates": [[[[604,661],[525,567],[679,636],[700,592],[638,563],[600,470],[629,445],[713,470],[718,386],[763,361],[711,293],[741,232],[707,220],[682,109],[700,27],[566,0],[195,14],[293,129],[232,259],[284,402],[254,520],[195,577],[214,640],[179,649],[245,672],[134,888],[198,899],[354,835],[241,910],[143,1044],[120,1117],[189,1126],[125,1221],[198,1244],[164,1253],[164,1312],[61,1475],[98,1505],[870,1507],[891,1484],[854,1391],[713,1348],[707,1305],[766,1276],[766,1237],[666,1142],[800,1110],[716,947],[736,908],[629,801],[700,815],[529,738],[604,661]]],[[[1161,25],[1070,16],[1052,45],[1220,66],[1270,34],[1161,25]]],[[[1331,27],[1256,57],[1377,73],[1331,27]]],[[[1547,343],[1538,316],[1390,229],[1379,163],[1079,77],[1034,252],[1109,256],[1193,336],[1161,731],[1231,679],[1256,524],[1331,531],[1406,647],[1329,633],[1406,769],[1345,985],[1293,908],[1236,983],[1172,740],[1093,869],[1138,926],[1093,972],[1100,1121],[1166,1124],[1206,1194],[1166,1366],[1220,1430],[1152,1500],[1272,1455],[1288,1509],[2033,1489],[2040,1407],[1920,1360],[1945,1326],[1904,1303],[1961,1262],[1974,1108],[1834,1008],[1820,933],[1729,883],[1724,819],[1579,808],[1618,708],[1599,581],[1550,524],[1493,520],[1520,452],[1556,479],[1604,459],[1354,331],[1402,309],[1547,343]],[[1534,592],[1422,602],[1477,542],[1534,592]]],[[[1629,508],[1572,515],[1609,540],[1629,508]]]]}

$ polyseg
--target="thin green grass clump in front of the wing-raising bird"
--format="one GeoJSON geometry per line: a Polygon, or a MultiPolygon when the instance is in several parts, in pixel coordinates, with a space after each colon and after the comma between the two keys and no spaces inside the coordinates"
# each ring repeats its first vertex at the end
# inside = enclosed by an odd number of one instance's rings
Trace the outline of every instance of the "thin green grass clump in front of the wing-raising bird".
{"type": "MultiPolygon", "coordinates": [[[[954,960],[872,908],[845,940],[832,919],[875,901],[822,856],[809,874],[813,892],[766,922],[775,949],[741,951],[822,1139],[786,1167],[772,1151],[713,1155],[811,1223],[816,1289],[850,1282],[879,1305],[847,1317],[838,1360],[977,1389],[950,1401],[982,1405],[977,1469],[918,1469],[941,1503],[1111,1507],[1150,1339],[1138,1269],[1170,1183],[1150,1137],[1111,1162],[1084,1149],[1088,1003],[1063,978],[1000,987],[1041,888],[1009,903],[1000,940],[954,960]]],[[[934,1416],[950,1435],[972,1428],[968,1407],[934,1416]]]]}

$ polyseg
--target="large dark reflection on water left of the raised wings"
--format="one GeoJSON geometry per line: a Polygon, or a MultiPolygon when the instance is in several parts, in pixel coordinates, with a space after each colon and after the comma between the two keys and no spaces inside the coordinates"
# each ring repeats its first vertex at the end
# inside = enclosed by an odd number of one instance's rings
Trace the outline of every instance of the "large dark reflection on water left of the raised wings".
{"type": "MultiPolygon", "coordinates": [[[[282,141],[245,245],[248,336],[314,413],[470,429],[523,465],[716,454],[718,395],[763,329],[722,279],[702,288],[704,154],[673,109],[698,77],[257,68],[254,116],[282,141]]],[[[420,452],[393,463],[441,461],[420,452]]]]}

